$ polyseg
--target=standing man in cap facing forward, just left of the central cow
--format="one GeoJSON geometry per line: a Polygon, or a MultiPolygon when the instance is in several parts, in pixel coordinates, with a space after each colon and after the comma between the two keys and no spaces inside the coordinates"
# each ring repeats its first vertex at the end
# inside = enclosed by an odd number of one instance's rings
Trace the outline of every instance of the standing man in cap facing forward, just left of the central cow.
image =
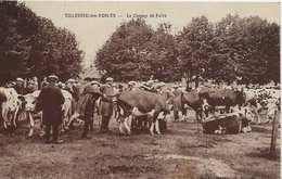
{"type": "MultiPolygon", "coordinates": [[[[106,78],[106,84],[100,88],[100,91],[105,95],[114,95],[115,91],[113,88],[114,79],[108,77],[106,78]]],[[[110,118],[113,115],[113,103],[106,101],[105,99],[101,99],[101,113],[102,115],[102,124],[100,132],[108,132],[108,123],[110,118]]]]}

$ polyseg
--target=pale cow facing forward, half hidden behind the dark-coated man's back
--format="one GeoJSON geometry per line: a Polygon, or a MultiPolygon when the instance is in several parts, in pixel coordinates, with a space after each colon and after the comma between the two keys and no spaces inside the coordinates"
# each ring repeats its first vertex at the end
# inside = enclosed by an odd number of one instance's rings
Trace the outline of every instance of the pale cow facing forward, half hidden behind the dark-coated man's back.
{"type": "MultiPolygon", "coordinates": [[[[36,111],[36,103],[37,103],[37,98],[38,98],[39,93],[40,93],[40,90],[35,91],[33,93],[28,93],[26,95],[18,95],[18,99],[24,103],[23,110],[27,113],[27,116],[29,119],[30,129],[28,132],[28,137],[31,137],[34,135],[35,120],[34,120],[31,113],[36,111]]],[[[63,125],[66,125],[68,123],[69,117],[72,116],[73,95],[66,90],[62,90],[62,93],[65,99],[65,102],[62,107],[63,125]]]]}

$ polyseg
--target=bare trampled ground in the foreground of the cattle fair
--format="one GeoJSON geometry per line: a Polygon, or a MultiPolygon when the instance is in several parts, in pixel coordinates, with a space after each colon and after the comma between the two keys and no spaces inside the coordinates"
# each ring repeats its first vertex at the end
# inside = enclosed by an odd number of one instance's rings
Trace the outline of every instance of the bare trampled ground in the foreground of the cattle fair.
{"type": "Polygon", "coordinates": [[[61,136],[63,144],[44,144],[38,123],[31,138],[25,125],[1,130],[0,178],[280,178],[279,157],[267,155],[271,124],[252,125],[248,133],[204,135],[192,116],[167,122],[168,131],[154,136],[120,136],[115,120],[111,133],[99,133],[95,119],[91,139],[80,139],[82,126],[76,126],[61,136]]]}

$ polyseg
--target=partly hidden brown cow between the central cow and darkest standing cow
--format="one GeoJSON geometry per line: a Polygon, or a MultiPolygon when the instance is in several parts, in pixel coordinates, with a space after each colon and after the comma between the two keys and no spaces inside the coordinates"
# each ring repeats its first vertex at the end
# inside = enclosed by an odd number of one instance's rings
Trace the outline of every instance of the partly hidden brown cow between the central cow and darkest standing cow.
{"type": "Polygon", "coordinates": [[[193,108],[196,113],[196,119],[202,120],[202,104],[203,100],[196,92],[181,92],[180,95],[174,99],[174,110],[180,111],[184,107],[184,104],[193,108]]]}

